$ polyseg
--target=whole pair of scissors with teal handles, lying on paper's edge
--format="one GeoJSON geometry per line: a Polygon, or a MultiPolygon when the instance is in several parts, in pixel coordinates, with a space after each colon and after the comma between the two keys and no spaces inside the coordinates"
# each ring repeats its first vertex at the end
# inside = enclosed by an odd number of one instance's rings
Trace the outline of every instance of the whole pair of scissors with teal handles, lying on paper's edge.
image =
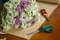
{"type": "Polygon", "coordinates": [[[40,29],[38,29],[34,32],[31,32],[27,35],[35,34],[35,33],[38,33],[38,32],[48,32],[48,33],[50,33],[50,32],[52,32],[52,26],[50,26],[50,25],[42,26],[40,29]]]}

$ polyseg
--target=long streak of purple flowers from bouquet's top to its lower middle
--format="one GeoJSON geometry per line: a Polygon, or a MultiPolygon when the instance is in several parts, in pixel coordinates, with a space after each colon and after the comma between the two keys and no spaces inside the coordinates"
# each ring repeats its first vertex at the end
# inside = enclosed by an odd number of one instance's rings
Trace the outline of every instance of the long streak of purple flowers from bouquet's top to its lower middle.
{"type": "MultiPolygon", "coordinates": [[[[21,15],[23,10],[22,8],[28,8],[28,5],[29,5],[29,0],[21,0],[21,3],[17,6],[16,10],[19,12],[19,14],[21,15]]],[[[20,18],[20,15],[17,15],[15,18],[15,25],[21,25],[22,24],[22,21],[19,20],[20,18]]]]}

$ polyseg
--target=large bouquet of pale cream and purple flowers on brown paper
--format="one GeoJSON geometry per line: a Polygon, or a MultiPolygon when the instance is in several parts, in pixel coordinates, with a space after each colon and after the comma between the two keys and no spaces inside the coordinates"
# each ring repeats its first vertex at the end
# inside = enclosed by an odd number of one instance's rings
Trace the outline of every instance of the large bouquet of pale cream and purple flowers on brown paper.
{"type": "Polygon", "coordinates": [[[11,28],[25,29],[39,21],[36,0],[9,0],[4,7],[4,11],[0,13],[3,31],[11,28]]]}

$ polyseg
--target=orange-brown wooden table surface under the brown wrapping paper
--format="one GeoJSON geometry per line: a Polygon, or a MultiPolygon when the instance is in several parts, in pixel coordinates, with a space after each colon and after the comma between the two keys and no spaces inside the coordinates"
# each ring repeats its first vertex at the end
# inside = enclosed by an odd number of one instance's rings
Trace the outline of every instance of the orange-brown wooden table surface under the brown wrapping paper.
{"type": "MultiPolygon", "coordinates": [[[[32,36],[30,40],[60,40],[60,5],[50,16],[50,21],[45,21],[42,25],[49,24],[53,28],[52,33],[37,33],[32,36]]],[[[25,40],[10,34],[0,35],[0,38],[7,38],[7,40],[25,40]]]]}

